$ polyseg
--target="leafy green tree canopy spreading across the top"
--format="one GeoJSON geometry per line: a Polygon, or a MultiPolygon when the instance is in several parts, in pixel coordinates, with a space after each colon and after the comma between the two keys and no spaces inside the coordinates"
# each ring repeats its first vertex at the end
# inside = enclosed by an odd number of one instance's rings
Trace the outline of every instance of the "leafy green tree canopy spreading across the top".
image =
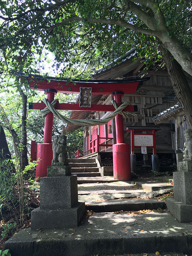
{"type": "Polygon", "coordinates": [[[0,4],[1,72],[25,68],[26,73],[39,73],[42,52],[49,50],[55,54],[55,68],[65,62],[77,75],[77,67],[111,61],[129,50],[133,41],[150,47],[149,37],[144,37],[148,35],[158,38],[183,70],[192,74],[190,1],[24,0],[0,4]]]}

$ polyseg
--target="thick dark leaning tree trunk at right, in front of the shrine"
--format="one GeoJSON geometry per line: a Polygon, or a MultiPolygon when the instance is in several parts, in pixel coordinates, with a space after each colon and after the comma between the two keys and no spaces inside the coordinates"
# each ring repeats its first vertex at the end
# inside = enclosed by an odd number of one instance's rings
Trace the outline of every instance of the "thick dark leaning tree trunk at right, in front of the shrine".
{"type": "Polygon", "coordinates": [[[171,59],[169,52],[163,54],[163,59],[167,67],[168,76],[171,80],[175,95],[185,113],[188,125],[192,129],[192,92],[188,81],[180,64],[175,59],[171,59]]]}

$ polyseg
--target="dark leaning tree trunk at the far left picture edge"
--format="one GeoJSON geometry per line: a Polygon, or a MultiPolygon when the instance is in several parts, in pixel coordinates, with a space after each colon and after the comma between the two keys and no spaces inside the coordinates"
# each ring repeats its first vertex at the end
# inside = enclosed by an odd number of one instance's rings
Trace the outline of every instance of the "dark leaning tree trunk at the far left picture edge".
{"type": "MultiPolygon", "coordinates": [[[[4,129],[0,125],[0,160],[1,162],[4,161],[5,159],[12,159],[11,158],[11,153],[9,151],[8,145],[7,145],[7,140],[5,137],[4,129]]],[[[13,171],[15,172],[15,167],[13,163],[11,162],[11,166],[13,171]]],[[[3,170],[4,166],[1,166],[1,171],[3,170]]]]}

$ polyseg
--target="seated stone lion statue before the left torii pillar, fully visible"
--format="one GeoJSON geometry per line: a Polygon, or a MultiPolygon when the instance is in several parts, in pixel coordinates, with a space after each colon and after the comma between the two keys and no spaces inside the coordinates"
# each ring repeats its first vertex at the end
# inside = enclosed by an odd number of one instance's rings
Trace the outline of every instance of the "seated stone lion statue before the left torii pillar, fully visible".
{"type": "Polygon", "coordinates": [[[53,135],[53,160],[52,163],[67,162],[67,136],[53,135]]]}

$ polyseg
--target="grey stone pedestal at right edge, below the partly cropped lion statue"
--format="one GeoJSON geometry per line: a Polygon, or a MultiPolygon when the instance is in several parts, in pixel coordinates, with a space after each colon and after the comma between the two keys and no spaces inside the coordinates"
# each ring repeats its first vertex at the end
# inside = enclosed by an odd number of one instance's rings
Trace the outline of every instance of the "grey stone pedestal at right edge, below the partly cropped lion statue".
{"type": "Polygon", "coordinates": [[[192,172],[173,172],[173,184],[174,198],[167,199],[167,209],[179,222],[192,222],[192,172]]]}

